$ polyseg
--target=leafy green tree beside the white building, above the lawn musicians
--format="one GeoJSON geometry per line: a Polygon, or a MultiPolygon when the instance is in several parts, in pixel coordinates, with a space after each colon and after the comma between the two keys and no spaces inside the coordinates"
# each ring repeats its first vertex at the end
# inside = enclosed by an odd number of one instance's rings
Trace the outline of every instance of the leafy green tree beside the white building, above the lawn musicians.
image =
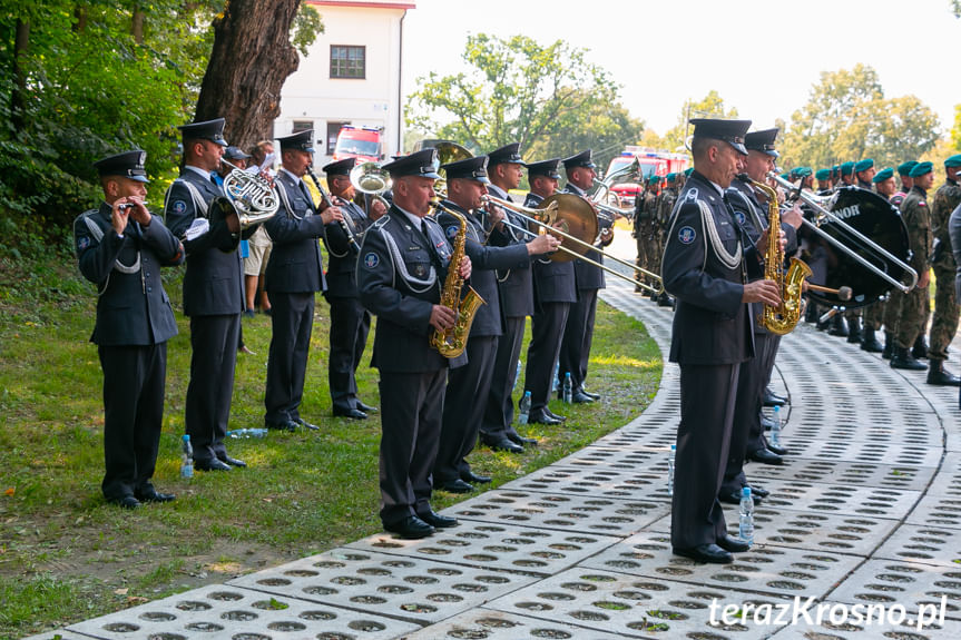
{"type": "Polygon", "coordinates": [[[618,86],[585,51],[562,40],[468,37],[469,72],[430,73],[411,96],[408,126],[487,151],[511,141],[527,157],[587,147],[618,149],[643,124],[618,104],[618,86]]]}

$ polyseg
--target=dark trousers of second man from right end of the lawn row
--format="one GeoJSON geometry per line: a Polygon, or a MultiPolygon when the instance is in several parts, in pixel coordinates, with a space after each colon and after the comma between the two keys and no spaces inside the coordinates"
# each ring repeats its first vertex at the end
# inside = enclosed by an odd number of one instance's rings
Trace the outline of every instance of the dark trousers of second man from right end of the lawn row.
{"type": "Polygon", "coordinates": [[[569,313],[570,303],[540,303],[540,311],[533,314],[523,382],[524,390],[530,392],[531,412],[543,410],[550,400],[553,365],[569,313]]]}

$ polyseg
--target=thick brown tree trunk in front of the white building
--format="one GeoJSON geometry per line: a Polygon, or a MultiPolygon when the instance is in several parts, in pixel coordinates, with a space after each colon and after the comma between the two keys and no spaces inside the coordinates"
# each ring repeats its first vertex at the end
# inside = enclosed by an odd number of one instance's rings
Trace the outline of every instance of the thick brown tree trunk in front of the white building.
{"type": "Polygon", "coordinates": [[[214,50],[200,85],[196,121],[226,118],[224,137],[248,148],[273,135],[281,88],[297,70],[291,26],[301,0],[229,0],[214,20],[214,50]]]}

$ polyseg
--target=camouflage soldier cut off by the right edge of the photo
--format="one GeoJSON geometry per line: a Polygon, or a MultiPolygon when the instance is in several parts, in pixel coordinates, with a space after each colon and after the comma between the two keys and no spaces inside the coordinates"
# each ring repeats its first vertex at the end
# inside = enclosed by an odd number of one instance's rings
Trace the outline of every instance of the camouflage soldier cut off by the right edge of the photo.
{"type": "Polygon", "coordinates": [[[930,362],[928,384],[959,386],[961,380],[944,371],[948,358],[948,345],[958,331],[958,299],[954,297],[954,254],[951,237],[948,235],[948,220],[951,211],[961,204],[961,185],[958,174],[961,173],[961,154],[944,160],[947,181],[934,193],[931,199],[931,230],[934,235],[934,255],[931,263],[934,269],[934,319],[931,323],[931,335],[928,349],[930,362]]]}

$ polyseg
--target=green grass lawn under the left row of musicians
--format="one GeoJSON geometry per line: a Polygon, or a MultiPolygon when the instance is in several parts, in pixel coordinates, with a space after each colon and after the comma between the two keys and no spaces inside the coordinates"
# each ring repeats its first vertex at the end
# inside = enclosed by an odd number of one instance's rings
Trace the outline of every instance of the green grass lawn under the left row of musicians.
{"type": "MultiPolygon", "coordinates": [[[[175,308],[182,275],[166,275],[175,308]]],[[[301,408],[320,432],[231,441],[231,454],[249,469],[182,480],[190,349],[188,323],[178,313],[155,475],[158,490],[176,493],[177,501],[136,512],[106,504],[101,376],[88,342],[95,301],[69,254],[36,262],[0,257],[0,638],[222,582],[381,531],[380,421],[377,414],[365,422],[331,417],[328,307],[321,296],[301,408]]],[[[263,425],[269,336],[268,317],[244,321],[256,355],[238,356],[233,429],[263,425]]],[[[360,397],[379,404],[377,374],[366,366],[372,344],[373,336],[357,382],[360,397]]],[[[601,303],[588,386],[604,400],[555,401],[552,410],[569,416],[566,425],[521,430],[541,441],[522,455],[480,449],[471,454],[474,470],[492,475],[497,488],[622,426],[649,404],[660,371],[644,326],[601,303]]],[[[462,499],[437,494],[434,506],[462,499]]]]}

